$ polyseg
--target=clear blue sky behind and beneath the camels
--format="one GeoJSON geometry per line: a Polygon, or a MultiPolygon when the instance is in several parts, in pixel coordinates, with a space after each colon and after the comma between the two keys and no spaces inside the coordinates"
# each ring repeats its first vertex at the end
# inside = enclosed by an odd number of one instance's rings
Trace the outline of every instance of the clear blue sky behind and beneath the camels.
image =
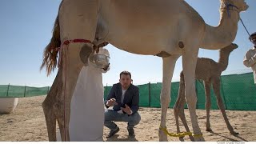
{"type": "MultiPolygon", "coordinates": [[[[56,76],[55,70],[50,77],[46,71],[39,70],[42,63],[42,53],[50,42],[54,19],[58,14],[61,0],[1,0],[0,5],[0,85],[11,84],[18,86],[51,86],[56,76]]],[[[204,18],[210,26],[219,22],[218,0],[186,0],[190,6],[204,18]]],[[[247,0],[250,6],[241,18],[250,33],[256,31],[256,1],[247,0]]],[[[192,35],[191,35],[192,36],[192,35]]],[[[234,71],[250,71],[242,64],[246,50],[253,45],[248,40],[248,34],[242,23],[238,23],[238,34],[234,40],[238,49],[230,54],[227,73],[234,71]]],[[[162,82],[162,58],[130,54],[108,45],[110,51],[111,69],[103,74],[103,84],[111,86],[118,82],[119,73],[129,70],[134,84],[147,82],[162,82]]],[[[218,61],[218,50],[199,51],[199,57],[212,58],[218,61]]],[[[182,70],[181,58],[178,59],[174,70],[173,81],[179,81],[182,70]]],[[[224,73],[224,74],[225,74],[224,73]]]]}

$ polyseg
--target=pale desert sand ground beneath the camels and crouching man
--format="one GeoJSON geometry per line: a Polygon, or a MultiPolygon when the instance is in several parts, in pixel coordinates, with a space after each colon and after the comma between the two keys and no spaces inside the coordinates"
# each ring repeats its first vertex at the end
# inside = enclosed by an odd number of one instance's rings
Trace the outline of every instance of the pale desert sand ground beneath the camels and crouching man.
{"type": "MultiPolygon", "coordinates": [[[[19,98],[18,106],[11,114],[0,114],[0,141],[6,142],[38,142],[48,141],[46,122],[42,111],[42,102],[46,96],[37,96],[30,98],[19,98]]],[[[128,138],[126,131],[126,123],[116,122],[120,128],[118,134],[112,138],[106,139],[106,134],[109,133],[104,127],[103,139],[104,141],[118,141],[118,142],[145,142],[158,141],[158,128],[160,124],[161,110],[159,108],[145,108],[139,109],[142,120],[135,126],[135,138],[128,138]]],[[[191,122],[189,111],[185,110],[186,118],[191,130],[191,122]]],[[[222,118],[219,110],[211,110],[210,122],[212,132],[207,132],[205,129],[206,110],[197,110],[199,126],[206,141],[223,142],[223,141],[256,141],[256,111],[240,111],[240,110],[226,110],[226,114],[230,120],[230,124],[238,135],[232,135],[226,129],[226,123],[222,118]]],[[[182,123],[182,122],[181,122],[182,123]]],[[[185,130],[181,125],[182,130],[185,130]]],[[[176,132],[173,109],[168,109],[166,119],[167,130],[170,133],[176,132]]],[[[180,141],[179,138],[168,137],[169,141],[180,141]]],[[[185,141],[190,141],[186,136],[185,141]]]]}

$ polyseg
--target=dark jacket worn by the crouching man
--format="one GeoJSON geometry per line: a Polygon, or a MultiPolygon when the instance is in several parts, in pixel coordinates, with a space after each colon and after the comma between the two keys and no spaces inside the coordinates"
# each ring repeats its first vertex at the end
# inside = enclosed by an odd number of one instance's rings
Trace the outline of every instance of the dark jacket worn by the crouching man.
{"type": "MultiPolygon", "coordinates": [[[[121,103],[122,98],[122,86],[121,83],[118,82],[114,84],[110,90],[110,94],[108,94],[105,106],[107,100],[110,100],[110,98],[115,98],[118,105],[114,105],[113,110],[118,111],[121,110],[121,107],[126,107],[126,105],[130,106],[130,110],[133,111],[133,114],[138,111],[138,102],[139,102],[139,93],[138,93],[138,87],[134,86],[133,84],[130,84],[129,88],[126,90],[125,97],[123,99],[123,103],[121,103]]],[[[106,106],[108,108],[109,106],[106,106]]],[[[125,113],[123,111],[123,113],[125,113]]]]}

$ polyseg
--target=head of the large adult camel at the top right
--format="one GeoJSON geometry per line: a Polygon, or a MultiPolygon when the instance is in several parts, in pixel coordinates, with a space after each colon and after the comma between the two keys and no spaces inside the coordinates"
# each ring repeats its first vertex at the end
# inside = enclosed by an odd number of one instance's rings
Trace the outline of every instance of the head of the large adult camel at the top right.
{"type": "Polygon", "coordinates": [[[223,9],[228,10],[237,10],[238,12],[246,11],[248,9],[248,5],[245,0],[220,0],[222,3],[223,9]]]}

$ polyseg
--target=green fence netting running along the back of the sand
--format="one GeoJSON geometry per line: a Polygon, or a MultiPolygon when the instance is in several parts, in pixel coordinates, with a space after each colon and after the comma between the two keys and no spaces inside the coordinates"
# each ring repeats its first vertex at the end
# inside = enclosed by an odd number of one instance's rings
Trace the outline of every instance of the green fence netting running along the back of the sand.
{"type": "MultiPolygon", "coordinates": [[[[196,105],[197,109],[205,109],[206,96],[203,82],[197,80],[195,81],[195,86],[198,97],[196,105]]],[[[112,86],[104,87],[104,99],[106,99],[107,94],[109,94],[111,87],[112,86]]],[[[140,93],[139,106],[161,106],[161,82],[138,85],[138,88],[140,93]]],[[[170,108],[172,108],[176,102],[178,97],[178,88],[179,82],[172,82],[170,108]]],[[[38,88],[29,86],[0,85],[0,98],[22,98],[46,95],[49,90],[49,86],[38,88]]],[[[211,109],[217,110],[218,104],[212,86],[210,94],[211,109]]],[[[254,84],[253,73],[222,75],[220,94],[226,110],[256,110],[256,85],[254,84]]]]}

